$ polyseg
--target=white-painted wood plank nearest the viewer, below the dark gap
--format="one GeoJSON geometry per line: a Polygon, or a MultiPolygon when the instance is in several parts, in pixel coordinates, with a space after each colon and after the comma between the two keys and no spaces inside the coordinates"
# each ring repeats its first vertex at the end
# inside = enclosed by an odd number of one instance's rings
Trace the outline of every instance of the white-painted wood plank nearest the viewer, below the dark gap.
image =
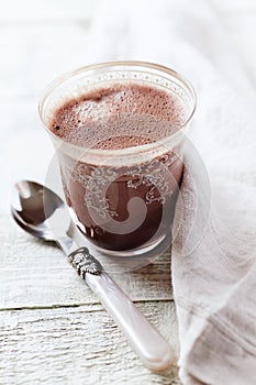
{"type": "MultiPolygon", "coordinates": [[[[137,304],[178,354],[174,302],[137,304]]],[[[0,378],[20,384],[180,384],[145,369],[99,305],[0,314],[0,378]]]]}

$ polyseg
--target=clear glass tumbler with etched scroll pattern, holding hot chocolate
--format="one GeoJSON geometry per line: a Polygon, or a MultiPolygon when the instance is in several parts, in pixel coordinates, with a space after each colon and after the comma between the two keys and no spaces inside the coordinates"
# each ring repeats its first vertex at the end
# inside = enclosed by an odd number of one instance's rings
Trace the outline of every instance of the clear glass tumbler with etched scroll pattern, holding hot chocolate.
{"type": "MultiPolygon", "coordinates": [[[[185,129],[194,109],[191,85],[175,70],[152,63],[87,66],[59,77],[45,90],[40,117],[57,152],[67,205],[78,229],[102,252],[136,255],[162,243],[170,244],[182,175],[185,129]],[[146,134],[149,143],[102,150],[96,148],[93,138],[91,145],[81,146],[51,131],[55,111],[66,101],[79,99],[85,92],[131,84],[164,90],[182,103],[182,121],[170,134],[156,139],[164,124],[156,120],[146,134]]],[[[115,133],[108,131],[105,117],[92,122],[96,136],[101,134],[102,140],[110,135],[111,140],[114,135],[127,136],[137,124],[145,125],[143,120],[148,118],[137,111],[127,117],[130,132],[122,132],[123,124],[119,125],[124,119],[121,113],[115,117],[115,133]]]]}

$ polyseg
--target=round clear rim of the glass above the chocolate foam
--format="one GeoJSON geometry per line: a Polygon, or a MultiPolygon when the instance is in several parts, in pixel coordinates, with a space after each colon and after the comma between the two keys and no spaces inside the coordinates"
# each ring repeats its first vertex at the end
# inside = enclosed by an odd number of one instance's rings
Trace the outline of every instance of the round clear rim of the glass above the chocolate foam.
{"type": "Polygon", "coordinates": [[[43,128],[46,130],[47,134],[49,134],[49,136],[52,136],[56,142],[63,143],[66,146],[73,148],[73,150],[77,150],[80,152],[87,152],[90,153],[91,155],[94,156],[122,156],[122,155],[134,155],[141,152],[147,152],[151,150],[154,150],[155,146],[159,144],[165,145],[166,142],[169,142],[170,140],[177,140],[177,136],[180,135],[180,132],[182,132],[182,129],[190,122],[190,120],[192,119],[194,111],[197,108],[197,94],[194,88],[192,87],[192,85],[190,84],[190,81],[188,81],[182,75],[180,75],[178,72],[176,72],[172,68],[169,68],[167,66],[160,65],[160,64],[155,64],[155,63],[151,63],[151,62],[142,62],[142,61],[112,61],[112,62],[103,62],[103,63],[97,63],[97,64],[90,64],[90,65],[86,65],[82,67],[79,67],[75,70],[69,70],[66,72],[65,74],[56,77],[52,82],[49,82],[46,88],[43,90],[42,92],[42,97],[40,98],[40,102],[38,102],[38,117],[41,120],[41,123],[43,124],[43,128]],[[85,147],[85,146],[79,146],[77,144],[70,143],[65,141],[64,139],[59,138],[57,134],[55,134],[53,131],[51,131],[48,129],[48,127],[46,125],[44,118],[43,118],[43,110],[44,110],[44,103],[46,102],[47,98],[51,96],[52,91],[57,88],[60,84],[63,84],[64,81],[79,75],[82,73],[87,73],[90,70],[97,70],[97,69],[101,69],[101,68],[108,68],[108,67],[137,67],[137,68],[147,68],[147,69],[155,69],[157,72],[159,72],[159,76],[160,73],[169,75],[175,77],[176,79],[178,79],[179,81],[182,82],[182,85],[186,86],[187,90],[190,94],[190,97],[192,99],[192,108],[191,111],[189,112],[186,121],[181,124],[179,124],[178,130],[175,131],[172,134],[167,135],[158,141],[152,142],[152,143],[147,143],[147,144],[142,144],[142,145],[137,145],[137,146],[131,146],[131,147],[125,147],[125,148],[119,148],[119,150],[103,150],[103,148],[91,148],[91,147],[85,147]]]}

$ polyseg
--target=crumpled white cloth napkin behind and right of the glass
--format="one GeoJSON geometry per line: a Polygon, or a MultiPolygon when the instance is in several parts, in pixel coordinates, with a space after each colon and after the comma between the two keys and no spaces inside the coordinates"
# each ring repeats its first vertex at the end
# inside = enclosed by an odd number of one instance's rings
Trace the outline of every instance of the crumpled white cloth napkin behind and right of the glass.
{"type": "Polygon", "coordinates": [[[201,0],[102,1],[88,62],[112,59],[167,65],[198,94],[171,255],[180,378],[256,384],[255,91],[201,0]]]}

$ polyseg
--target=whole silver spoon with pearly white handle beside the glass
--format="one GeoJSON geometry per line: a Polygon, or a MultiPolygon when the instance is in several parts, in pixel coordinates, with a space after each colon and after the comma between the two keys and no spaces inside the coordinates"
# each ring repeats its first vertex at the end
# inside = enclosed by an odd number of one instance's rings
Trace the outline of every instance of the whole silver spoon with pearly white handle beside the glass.
{"type": "Polygon", "coordinates": [[[89,250],[78,248],[73,239],[68,209],[54,191],[35,182],[21,180],[13,187],[11,212],[23,230],[45,241],[55,241],[60,246],[145,366],[162,371],[175,362],[174,350],[165,338],[104,272],[89,250]]]}

